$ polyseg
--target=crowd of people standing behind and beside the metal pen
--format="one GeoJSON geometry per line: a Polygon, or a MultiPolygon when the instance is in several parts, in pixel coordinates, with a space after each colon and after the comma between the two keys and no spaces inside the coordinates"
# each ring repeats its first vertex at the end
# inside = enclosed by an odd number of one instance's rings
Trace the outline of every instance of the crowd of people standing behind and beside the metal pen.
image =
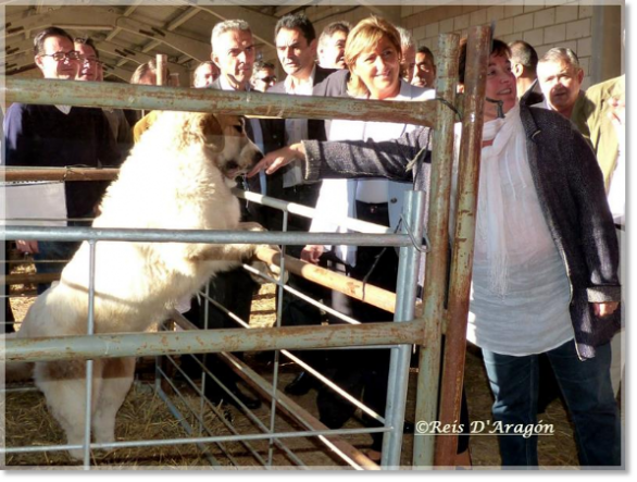
{"type": "MultiPolygon", "coordinates": [[[[217,23],[211,60],[193,71],[195,88],[267,91],[291,96],[423,101],[436,97],[436,63],[409,30],[371,16],[352,26],[338,21],[320,36],[302,13],[282,17],[273,33],[285,78],[274,63],[257,60],[250,25],[217,23]]],[[[58,27],[39,33],[36,65],[45,78],[103,81],[99,51],[89,38],[58,27]]],[[[461,49],[461,62],[466,45],[461,49]]],[[[462,81],[463,72],[460,72],[462,81]]],[[[621,464],[617,394],[623,376],[619,243],[625,212],[625,77],[582,88],[577,54],[553,48],[538,57],[533,46],[494,40],[487,70],[476,244],[467,339],[482,349],[495,403],[494,419],[533,424],[544,397],[559,395],[575,427],[583,466],[621,464]],[[544,360],[544,361],[542,361],[544,360]],[[542,368],[544,367],[544,368],[542,368]],[[551,388],[547,388],[548,386],[551,388]],[[549,395],[545,395],[549,393],[549,395]]],[[[132,84],[157,84],[157,65],[139,65],[132,84]]],[[[3,123],[5,165],[117,166],[157,113],[68,106],[12,104],[3,123]]],[[[430,129],[403,123],[249,119],[248,136],[266,155],[243,187],[316,208],[313,220],[290,217],[287,230],[347,232],[334,223],[348,215],[396,228],[403,191],[428,191],[428,157],[408,171],[409,160],[429,145],[430,129]],[[412,174],[415,173],[415,174],[412,174]],[[267,174],[267,175],[265,175],[267,174]],[[415,175],[415,177],[414,177],[415,175]]],[[[459,134],[458,134],[459,136],[459,134]]],[[[457,159],[458,161],[458,159],[457,159]]],[[[458,162],[455,162],[454,175],[458,162]]],[[[68,225],[90,225],[105,183],[66,183],[68,225]]],[[[243,217],[274,231],[280,212],[245,203],[243,217]]],[[[77,244],[17,240],[36,260],[68,259],[77,244]]],[[[396,289],[394,249],[348,246],[288,246],[287,254],[352,279],[396,289]]],[[[38,273],[63,263],[36,264],[38,273]]],[[[289,285],[362,323],[391,314],[290,275],[289,285]]],[[[46,285],[38,287],[41,293],[46,285]]],[[[210,282],[210,295],[249,320],[258,285],[242,269],[210,282]]],[[[283,295],[282,325],[340,323],[315,306],[283,295]]],[[[7,302],[7,320],[12,320],[7,302]]],[[[192,300],[186,312],[201,327],[235,327],[215,309],[192,300]],[[208,319],[204,319],[208,312],[208,319]]],[[[5,330],[12,330],[11,323],[5,330]]],[[[267,354],[265,354],[267,356],[267,354]]],[[[302,351],[303,361],[361,399],[385,411],[388,350],[302,351]]],[[[240,356],[240,354],[239,354],[240,356]]],[[[214,403],[258,408],[239,390],[238,376],[216,356],[208,368],[228,387],[213,383],[214,403]]],[[[199,375],[199,363],[187,368],[199,375]]],[[[355,407],[307,371],[285,386],[292,396],[316,390],[321,421],[342,427],[355,407]]],[[[471,400],[470,400],[471,403],[471,400]]],[[[466,417],[466,410],[463,410],[466,417]]],[[[373,418],[364,422],[376,425],[373,418]]],[[[405,422],[405,431],[413,424],[405,422]]],[[[537,436],[500,436],[504,466],[537,466],[537,436]]],[[[369,452],[379,460],[382,434],[369,452]]],[[[459,447],[469,465],[465,443],[459,447]]]]}

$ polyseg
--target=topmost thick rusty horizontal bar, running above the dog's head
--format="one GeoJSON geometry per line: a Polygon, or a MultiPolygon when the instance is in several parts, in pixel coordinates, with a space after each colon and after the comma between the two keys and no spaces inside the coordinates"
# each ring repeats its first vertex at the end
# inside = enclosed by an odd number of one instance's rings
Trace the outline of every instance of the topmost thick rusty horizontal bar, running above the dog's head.
{"type": "Polygon", "coordinates": [[[265,118],[349,119],[427,126],[434,125],[437,103],[435,100],[384,102],[111,82],[68,83],[0,77],[0,85],[2,82],[4,88],[0,92],[4,92],[7,102],[214,112],[265,118]]]}

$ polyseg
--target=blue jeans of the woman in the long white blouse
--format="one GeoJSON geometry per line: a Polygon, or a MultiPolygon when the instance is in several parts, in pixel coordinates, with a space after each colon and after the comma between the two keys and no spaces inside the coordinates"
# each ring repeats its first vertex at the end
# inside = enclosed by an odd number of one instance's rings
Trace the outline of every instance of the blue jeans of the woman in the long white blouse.
{"type": "MultiPolygon", "coordinates": [[[[483,349],[494,392],[494,422],[517,427],[537,423],[538,356],[512,357],[483,349]]],[[[580,466],[620,466],[620,412],[610,379],[611,347],[579,360],[574,341],[547,351],[575,428],[580,466]]],[[[513,432],[513,431],[511,431],[513,432]]],[[[550,435],[549,435],[550,436],[550,435]]],[[[537,466],[537,435],[499,435],[503,466],[537,466]]]]}

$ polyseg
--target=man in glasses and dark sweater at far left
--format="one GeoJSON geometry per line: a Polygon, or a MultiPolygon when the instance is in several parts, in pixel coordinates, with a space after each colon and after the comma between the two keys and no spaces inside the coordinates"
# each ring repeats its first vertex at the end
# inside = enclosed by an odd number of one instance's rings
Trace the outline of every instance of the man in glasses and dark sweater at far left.
{"type": "MultiPolygon", "coordinates": [[[[74,81],[80,54],[63,29],[49,27],[34,39],[35,63],[45,78],[74,81]]],[[[4,119],[4,164],[23,166],[118,165],[121,157],[101,109],[13,103],[4,119]]],[[[105,185],[68,182],[64,186],[67,225],[90,225],[105,185]]],[[[78,243],[17,240],[38,261],[71,259],[78,243]]],[[[37,263],[38,273],[59,273],[65,263],[37,263]]],[[[43,293],[48,284],[38,285],[43,293]]]]}

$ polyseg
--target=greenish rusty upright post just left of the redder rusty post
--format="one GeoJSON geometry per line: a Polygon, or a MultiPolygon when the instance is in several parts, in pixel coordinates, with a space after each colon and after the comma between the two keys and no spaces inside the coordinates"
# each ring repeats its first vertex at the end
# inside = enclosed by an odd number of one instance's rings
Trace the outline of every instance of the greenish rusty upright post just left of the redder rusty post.
{"type": "MultiPolygon", "coordinates": [[[[451,104],[455,103],[458,84],[458,46],[455,34],[440,36],[438,55],[439,71],[436,94],[451,104]]],[[[451,176],[453,166],[454,113],[440,104],[438,125],[434,133],[432,181],[429,186],[428,226],[429,252],[425,264],[423,286],[423,318],[426,342],[419,355],[416,388],[416,420],[436,420],[438,408],[438,380],[440,372],[440,337],[445,317],[447,293],[447,269],[449,261],[449,206],[451,199],[451,176]]],[[[434,464],[435,437],[415,436],[413,465],[416,467],[434,464]]]]}

